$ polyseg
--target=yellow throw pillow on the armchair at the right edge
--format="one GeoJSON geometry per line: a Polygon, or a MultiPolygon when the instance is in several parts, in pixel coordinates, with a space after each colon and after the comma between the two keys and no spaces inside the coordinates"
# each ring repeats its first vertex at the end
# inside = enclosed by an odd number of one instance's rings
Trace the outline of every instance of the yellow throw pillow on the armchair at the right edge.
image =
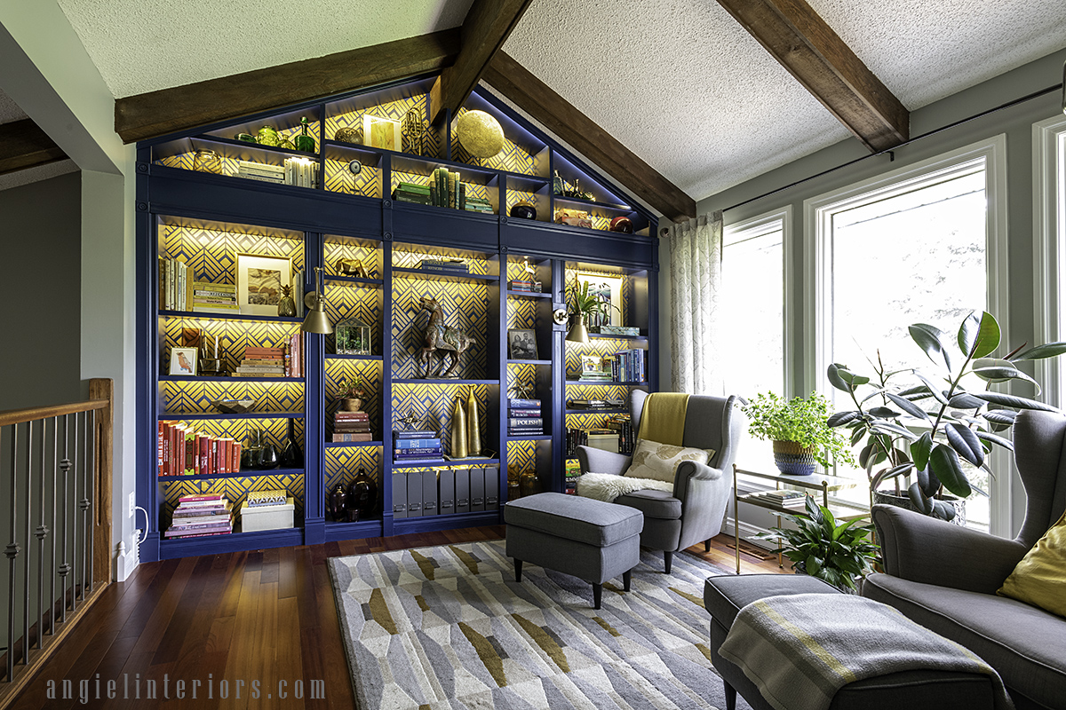
{"type": "Polygon", "coordinates": [[[1066,616],[1066,513],[1025,552],[996,593],[1066,616]]]}

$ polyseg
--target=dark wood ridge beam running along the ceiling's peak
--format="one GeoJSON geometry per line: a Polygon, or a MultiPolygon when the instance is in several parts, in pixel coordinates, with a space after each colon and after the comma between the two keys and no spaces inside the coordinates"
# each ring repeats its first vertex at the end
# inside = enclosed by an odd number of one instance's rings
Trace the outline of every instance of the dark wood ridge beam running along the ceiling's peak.
{"type": "Polygon", "coordinates": [[[430,92],[430,122],[447,110],[454,115],[478,85],[531,0],[473,0],[461,29],[459,55],[440,72],[430,92]]]}

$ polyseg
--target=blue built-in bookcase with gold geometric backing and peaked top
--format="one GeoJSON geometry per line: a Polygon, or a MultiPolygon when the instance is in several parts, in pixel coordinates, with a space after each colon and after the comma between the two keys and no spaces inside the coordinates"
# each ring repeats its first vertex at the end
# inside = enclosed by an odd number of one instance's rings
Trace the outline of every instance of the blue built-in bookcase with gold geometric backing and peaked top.
{"type": "Polygon", "coordinates": [[[568,400],[624,399],[634,387],[658,389],[657,218],[633,197],[480,87],[455,116],[447,115],[437,126],[426,123],[420,154],[410,146],[393,151],[334,139],[339,129],[360,127],[364,114],[402,120],[414,112],[410,115],[427,118],[433,79],[336,96],[139,144],[136,495],[148,511],[143,560],[500,523],[508,470],[513,476],[535,473],[539,490],[562,491],[567,427],[599,427],[612,413],[568,410],[568,400]],[[504,147],[491,159],[470,158],[456,139],[453,119],[474,110],[491,114],[503,128],[504,147]],[[236,137],[256,135],[270,126],[291,138],[304,117],[314,137],[313,152],[236,137]],[[196,169],[197,151],[213,152],[214,171],[196,169]],[[317,163],[321,179],[313,187],[238,175],[242,161],[282,165],[292,156],[317,163]],[[352,161],[361,165],[358,174],[350,169],[352,161]],[[400,182],[429,184],[438,167],[458,171],[468,195],[487,200],[494,213],[392,199],[400,182]],[[581,191],[594,199],[554,194],[556,171],[568,183],[580,181],[581,191]],[[535,219],[508,216],[520,200],[533,204],[535,219]],[[592,228],[554,224],[560,209],[587,212],[592,228]],[[630,219],[634,233],[609,231],[618,216],[630,219]],[[185,345],[185,329],[219,336],[227,369],[238,364],[245,348],[278,347],[300,333],[298,317],[162,309],[161,259],[182,260],[196,280],[233,284],[239,254],[288,260],[303,275],[297,298],[313,290],[313,268],[323,267],[330,321],[356,316],[368,324],[370,354],[337,354],[333,335],[302,334],[306,374],[301,377],[168,375],[171,348],[185,345]],[[423,259],[440,257],[465,260],[469,275],[440,276],[419,268],[423,259]],[[367,274],[341,273],[342,259],[358,260],[367,274]],[[508,288],[512,280],[529,274],[528,266],[544,284],[543,292],[508,288]],[[600,275],[614,284],[614,323],[620,318],[621,325],[637,327],[639,335],[594,334],[587,345],[565,341],[567,326],[555,324],[552,313],[567,308],[567,288],[587,275],[600,275]],[[416,304],[422,296],[433,296],[443,306],[448,325],[474,336],[463,356],[458,379],[419,378],[415,359],[421,329],[416,304]],[[535,332],[536,360],[508,358],[512,329],[535,332]],[[644,380],[579,381],[582,354],[630,348],[646,350],[644,380]],[[333,443],[340,385],[352,378],[369,389],[364,409],[373,441],[333,443]],[[507,435],[506,398],[519,385],[534,387],[542,400],[543,435],[507,435]],[[391,431],[395,423],[408,413],[429,417],[447,447],[455,399],[471,392],[479,402],[482,445],[491,456],[464,461],[462,467],[484,467],[498,476],[499,505],[478,512],[394,517],[391,431]],[[221,414],[211,404],[242,397],[256,402],[244,414],[221,414]],[[157,463],[160,422],[181,422],[239,441],[251,428],[261,428],[277,447],[289,439],[291,427],[304,452],[303,466],[165,477],[157,463]],[[328,492],[350,482],[360,468],[377,481],[375,513],[356,523],[330,521],[328,492]],[[285,489],[293,497],[293,528],[183,540],[163,535],[182,495],[224,493],[236,509],[247,493],[269,489],[285,489]]]}

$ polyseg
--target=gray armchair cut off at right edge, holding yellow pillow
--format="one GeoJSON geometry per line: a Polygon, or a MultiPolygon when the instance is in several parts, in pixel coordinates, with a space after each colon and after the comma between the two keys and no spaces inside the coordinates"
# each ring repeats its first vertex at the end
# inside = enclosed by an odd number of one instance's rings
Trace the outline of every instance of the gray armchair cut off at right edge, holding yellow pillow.
{"type": "Polygon", "coordinates": [[[1066,416],[1022,412],[1015,462],[1025,519],[1015,540],[918,513],[874,506],[885,572],[863,596],[899,609],[995,667],[1018,710],[1066,710],[1066,618],[996,595],[1027,551],[1066,510],[1066,416]]]}

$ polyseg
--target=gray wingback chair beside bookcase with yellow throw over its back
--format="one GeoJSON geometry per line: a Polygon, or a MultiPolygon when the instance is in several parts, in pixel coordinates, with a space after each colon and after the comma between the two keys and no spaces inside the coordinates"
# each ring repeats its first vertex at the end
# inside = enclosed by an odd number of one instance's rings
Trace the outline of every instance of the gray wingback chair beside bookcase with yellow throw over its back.
{"type": "MultiPolygon", "coordinates": [[[[633,431],[641,429],[641,414],[648,393],[636,390],[630,399],[633,431]]],[[[689,398],[682,444],[714,449],[706,465],[682,462],[674,479],[673,494],[647,489],[615,498],[614,502],[644,513],[641,544],[661,549],[669,574],[674,552],[698,542],[710,549],[710,539],[722,531],[722,519],[732,496],[732,463],[740,442],[741,422],[733,412],[737,397],[689,398]]],[[[578,447],[581,473],[626,473],[632,457],[588,446],[578,447]]]]}

